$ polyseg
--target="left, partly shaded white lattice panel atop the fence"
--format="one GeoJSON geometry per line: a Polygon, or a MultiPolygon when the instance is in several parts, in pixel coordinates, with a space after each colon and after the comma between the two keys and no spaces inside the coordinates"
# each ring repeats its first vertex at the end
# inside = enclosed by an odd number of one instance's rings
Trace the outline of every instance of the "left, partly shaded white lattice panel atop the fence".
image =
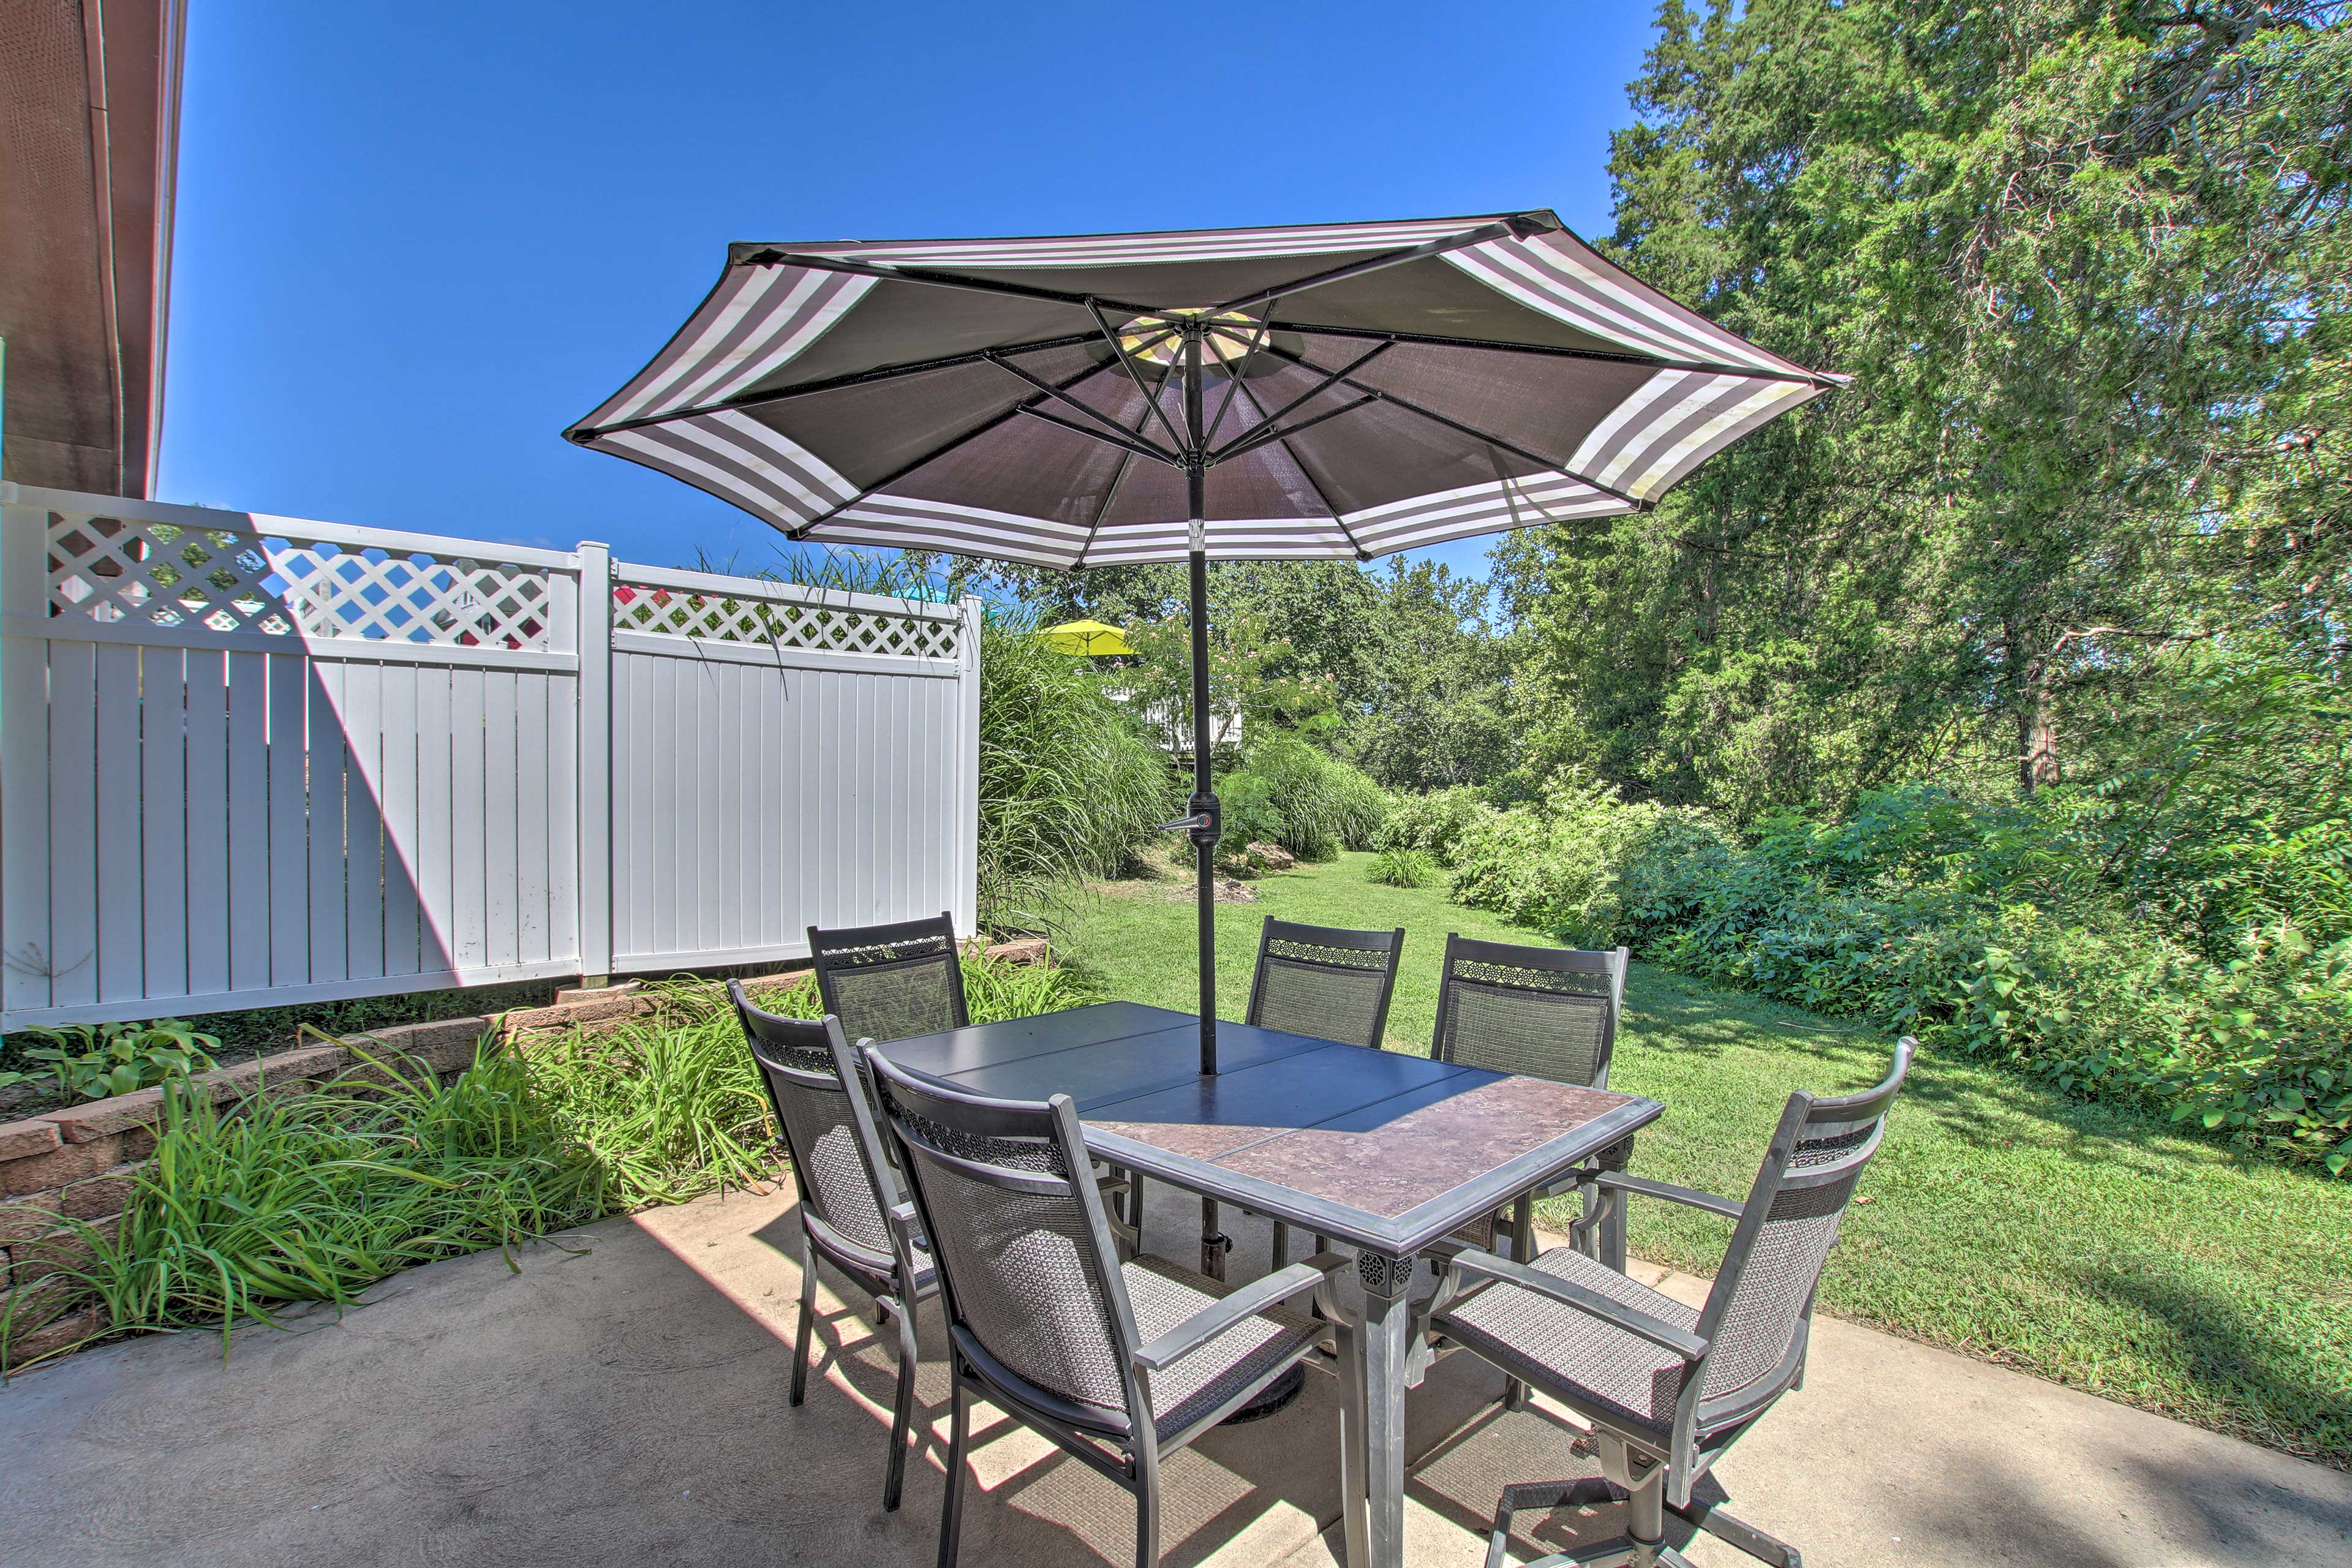
{"type": "Polygon", "coordinates": [[[546,649],[548,574],[49,512],[49,614],[270,637],[546,649]]]}

